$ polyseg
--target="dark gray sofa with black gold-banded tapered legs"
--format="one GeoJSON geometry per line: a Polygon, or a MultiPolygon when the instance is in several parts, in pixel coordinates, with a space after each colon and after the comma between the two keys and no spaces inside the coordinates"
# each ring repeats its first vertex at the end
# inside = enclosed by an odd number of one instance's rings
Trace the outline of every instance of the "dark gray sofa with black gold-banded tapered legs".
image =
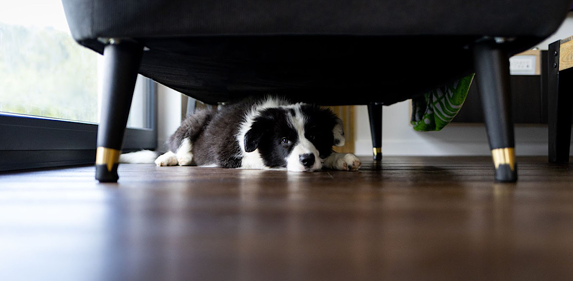
{"type": "Polygon", "coordinates": [[[138,72],[211,104],[281,93],[369,104],[376,115],[476,72],[495,178],[515,181],[508,57],[553,33],[570,7],[570,0],[62,2],[74,39],[108,61],[100,181],[117,180],[138,72]]]}

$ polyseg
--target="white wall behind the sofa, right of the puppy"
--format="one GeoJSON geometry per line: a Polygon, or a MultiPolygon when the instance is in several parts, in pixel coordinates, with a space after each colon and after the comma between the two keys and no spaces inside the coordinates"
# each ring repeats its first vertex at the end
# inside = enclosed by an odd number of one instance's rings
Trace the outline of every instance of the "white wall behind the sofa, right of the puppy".
{"type": "MultiPolygon", "coordinates": [[[[573,13],[558,31],[537,45],[547,50],[549,43],[573,35],[573,13]]],[[[490,155],[483,124],[449,124],[439,132],[416,132],[410,125],[410,102],[384,106],[382,111],[383,155],[490,155]]],[[[372,155],[368,109],[358,106],[355,118],[357,155],[372,155]]],[[[547,155],[547,125],[516,125],[517,155],[547,155]]],[[[571,146],[573,155],[573,145],[571,146]]]]}

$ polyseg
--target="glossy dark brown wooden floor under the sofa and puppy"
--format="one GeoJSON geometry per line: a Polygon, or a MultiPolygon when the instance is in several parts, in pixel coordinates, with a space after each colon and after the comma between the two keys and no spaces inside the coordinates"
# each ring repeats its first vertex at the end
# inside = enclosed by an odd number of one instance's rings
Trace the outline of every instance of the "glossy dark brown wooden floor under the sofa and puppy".
{"type": "Polygon", "coordinates": [[[518,160],[0,173],[0,279],[572,280],[573,165],[518,160]]]}

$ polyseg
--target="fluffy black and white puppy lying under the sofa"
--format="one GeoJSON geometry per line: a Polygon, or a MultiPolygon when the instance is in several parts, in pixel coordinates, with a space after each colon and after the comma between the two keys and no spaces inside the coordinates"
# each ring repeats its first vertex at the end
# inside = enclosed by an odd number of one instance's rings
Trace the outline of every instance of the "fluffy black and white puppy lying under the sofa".
{"type": "Polygon", "coordinates": [[[243,169],[356,170],[360,160],[335,153],[344,145],[342,120],[331,110],[285,98],[248,98],[198,110],[167,142],[158,166],[198,165],[243,169]]]}

